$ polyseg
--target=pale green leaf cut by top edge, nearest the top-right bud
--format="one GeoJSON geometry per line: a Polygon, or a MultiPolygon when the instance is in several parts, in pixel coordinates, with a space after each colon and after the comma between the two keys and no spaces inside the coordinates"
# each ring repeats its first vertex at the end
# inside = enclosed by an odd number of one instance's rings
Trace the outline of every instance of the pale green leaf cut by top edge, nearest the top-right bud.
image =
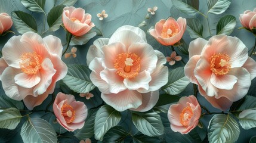
{"type": "Polygon", "coordinates": [[[208,13],[222,14],[227,10],[227,8],[229,8],[230,4],[231,0],[208,0],[208,13]]]}

